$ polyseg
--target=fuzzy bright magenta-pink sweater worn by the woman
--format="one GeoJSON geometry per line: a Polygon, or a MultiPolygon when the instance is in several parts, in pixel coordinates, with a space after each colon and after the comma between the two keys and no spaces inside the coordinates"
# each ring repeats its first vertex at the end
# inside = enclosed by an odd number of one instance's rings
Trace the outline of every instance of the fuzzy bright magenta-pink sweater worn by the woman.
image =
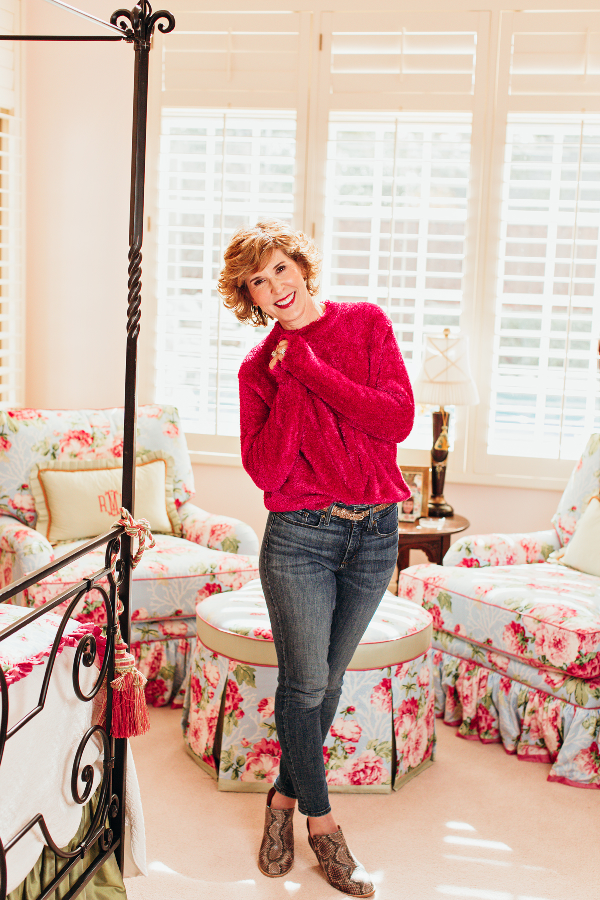
{"type": "Polygon", "coordinates": [[[275,512],[394,503],[396,462],[415,420],[398,341],[373,303],[326,302],[303,329],[279,322],[239,370],[242,460],[275,512]],[[269,369],[280,340],[290,342],[269,369]]]}

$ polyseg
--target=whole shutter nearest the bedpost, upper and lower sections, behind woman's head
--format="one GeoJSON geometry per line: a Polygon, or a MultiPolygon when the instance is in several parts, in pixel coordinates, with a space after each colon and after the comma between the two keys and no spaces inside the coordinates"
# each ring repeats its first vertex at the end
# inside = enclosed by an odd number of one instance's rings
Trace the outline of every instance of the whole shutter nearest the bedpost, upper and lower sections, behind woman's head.
{"type": "Polygon", "coordinates": [[[311,14],[173,12],[177,29],[163,45],[157,400],[175,402],[191,432],[235,436],[237,371],[266,329],[224,310],[217,280],[237,228],[293,217],[311,14]]]}

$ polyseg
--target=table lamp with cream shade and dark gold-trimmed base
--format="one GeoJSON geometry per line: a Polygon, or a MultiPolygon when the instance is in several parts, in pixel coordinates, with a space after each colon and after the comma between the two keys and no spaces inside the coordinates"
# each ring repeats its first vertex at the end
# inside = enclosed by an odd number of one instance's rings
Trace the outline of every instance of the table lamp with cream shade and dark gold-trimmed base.
{"type": "Polygon", "coordinates": [[[443,337],[425,337],[425,356],[421,371],[413,385],[417,403],[439,406],[432,413],[434,419],[434,446],[431,451],[432,497],[429,516],[443,518],[454,515],[454,510],[443,499],[443,484],[450,453],[448,423],[450,413],[445,406],[477,406],[479,392],[470,374],[469,338],[451,337],[450,329],[444,329],[443,337]]]}

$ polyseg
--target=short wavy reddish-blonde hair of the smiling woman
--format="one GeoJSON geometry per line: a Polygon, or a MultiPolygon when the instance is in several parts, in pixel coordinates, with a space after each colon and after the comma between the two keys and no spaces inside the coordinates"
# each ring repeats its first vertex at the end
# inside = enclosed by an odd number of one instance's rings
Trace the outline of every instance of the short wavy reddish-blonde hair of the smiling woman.
{"type": "Polygon", "coordinates": [[[252,229],[239,229],[225,251],[225,268],[219,277],[219,293],[228,310],[234,311],[240,322],[255,326],[268,325],[273,316],[254,305],[246,281],[260,272],[281,249],[300,266],[311,297],[318,293],[318,274],[321,255],[313,240],[301,231],[294,231],[285,222],[264,219],[252,229]]]}

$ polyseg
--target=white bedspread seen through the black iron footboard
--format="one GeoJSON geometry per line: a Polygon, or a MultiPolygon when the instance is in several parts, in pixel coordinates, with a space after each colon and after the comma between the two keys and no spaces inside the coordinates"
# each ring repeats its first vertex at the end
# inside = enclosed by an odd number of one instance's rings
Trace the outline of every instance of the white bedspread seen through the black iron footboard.
{"type": "MultiPolygon", "coordinates": [[[[13,607],[12,610],[15,610],[13,607]]],[[[30,610],[20,609],[22,615],[30,610]]],[[[51,614],[49,614],[51,615],[51,614]]],[[[55,617],[52,617],[53,619],[55,617]]],[[[0,630],[8,623],[0,619],[0,630]]],[[[79,623],[69,623],[67,633],[79,623]]],[[[50,626],[51,627],[51,626],[50,626]]],[[[56,634],[56,631],[55,631],[56,634]]],[[[12,649],[18,636],[9,638],[12,649]]],[[[0,644],[0,649],[7,642],[0,644]]],[[[57,657],[44,709],[30,723],[6,743],[0,767],[0,836],[4,842],[12,840],[24,825],[41,813],[49,833],[58,847],[64,847],[74,837],[81,823],[82,806],[71,794],[71,772],[77,748],[92,722],[93,703],[82,703],[73,689],[73,662],[76,648],[65,647],[57,657]]],[[[13,683],[9,689],[9,728],[38,705],[46,662],[34,665],[27,677],[13,683]]],[[[87,693],[94,686],[98,670],[81,666],[81,686],[87,693]]],[[[102,777],[102,746],[95,737],[87,744],[79,772],[85,765],[94,765],[94,788],[102,777]]],[[[85,783],[79,779],[79,792],[85,783]]],[[[139,784],[133,756],[128,752],[126,804],[125,875],[147,875],[146,834],[139,784]]],[[[35,826],[6,855],[8,892],[21,884],[40,858],[44,842],[40,828],[35,826]]]]}

